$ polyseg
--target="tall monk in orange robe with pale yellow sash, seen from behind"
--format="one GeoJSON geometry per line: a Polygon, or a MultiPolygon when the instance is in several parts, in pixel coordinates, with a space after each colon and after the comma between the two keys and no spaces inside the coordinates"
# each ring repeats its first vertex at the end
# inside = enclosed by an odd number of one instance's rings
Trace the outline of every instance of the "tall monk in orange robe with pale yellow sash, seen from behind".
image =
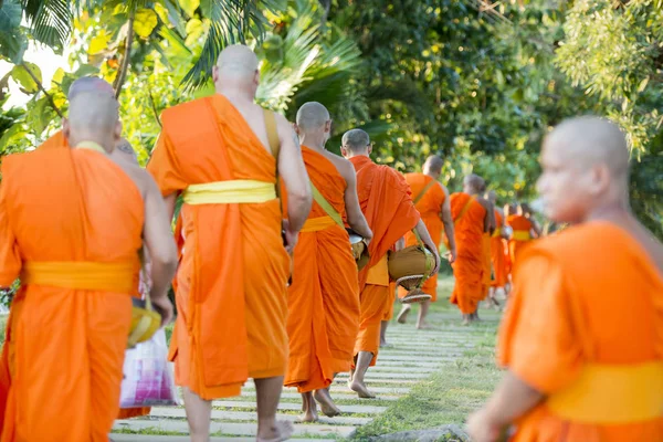
{"type": "Polygon", "coordinates": [[[253,51],[225,48],[212,76],[213,96],[164,112],[147,166],[170,218],[183,194],[170,359],[192,442],[209,440],[211,401],[239,396],[249,378],[257,394],[256,440],[282,441],[293,432],[275,419],[287,368],[288,251],[311,210],[311,185],[290,123],[254,103],[253,51]],[[283,225],[277,173],[287,191],[283,225]]]}

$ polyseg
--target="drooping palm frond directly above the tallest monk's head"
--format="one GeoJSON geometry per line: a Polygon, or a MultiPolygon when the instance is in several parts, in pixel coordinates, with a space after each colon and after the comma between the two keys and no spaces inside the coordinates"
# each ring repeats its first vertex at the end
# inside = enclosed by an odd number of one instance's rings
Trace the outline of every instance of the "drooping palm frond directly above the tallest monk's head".
{"type": "Polygon", "coordinates": [[[203,86],[219,54],[229,44],[245,43],[251,35],[259,42],[265,34],[267,21],[263,10],[274,9],[273,0],[203,0],[200,9],[210,21],[200,57],[182,80],[185,88],[203,86]]]}

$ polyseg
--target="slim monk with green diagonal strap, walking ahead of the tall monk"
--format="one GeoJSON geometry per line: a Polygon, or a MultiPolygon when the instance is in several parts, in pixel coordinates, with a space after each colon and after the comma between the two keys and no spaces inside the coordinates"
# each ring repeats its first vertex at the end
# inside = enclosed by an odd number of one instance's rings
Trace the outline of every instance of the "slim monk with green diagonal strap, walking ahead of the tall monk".
{"type": "Polygon", "coordinates": [[[302,393],[305,422],[318,419],[316,401],[327,417],[340,414],[328,388],[336,373],[350,371],[359,332],[357,264],[343,219],[367,242],[372,236],[359,208],[352,164],[325,150],[330,129],[322,104],[306,103],[297,112],[302,156],[319,192],[295,246],[288,288],[285,385],[302,393]]]}

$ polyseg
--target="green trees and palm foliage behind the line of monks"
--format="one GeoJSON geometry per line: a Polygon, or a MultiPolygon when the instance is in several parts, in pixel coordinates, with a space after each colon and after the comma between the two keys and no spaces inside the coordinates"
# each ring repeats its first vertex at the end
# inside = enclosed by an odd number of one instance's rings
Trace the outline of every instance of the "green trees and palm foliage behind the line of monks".
{"type": "Polygon", "coordinates": [[[112,82],[125,136],[149,158],[168,106],[211,94],[218,53],[262,60],[259,99],[291,120],[319,101],[339,137],[362,127],[377,160],[445,159],[452,190],[475,171],[501,202],[534,196],[546,131],[586,113],[628,133],[638,215],[663,238],[663,0],[3,0],[0,154],[57,130],[82,75],[112,82]],[[39,43],[67,56],[43,84],[39,43]],[[30,96],[10,107],[8,85],[30,96]]]}

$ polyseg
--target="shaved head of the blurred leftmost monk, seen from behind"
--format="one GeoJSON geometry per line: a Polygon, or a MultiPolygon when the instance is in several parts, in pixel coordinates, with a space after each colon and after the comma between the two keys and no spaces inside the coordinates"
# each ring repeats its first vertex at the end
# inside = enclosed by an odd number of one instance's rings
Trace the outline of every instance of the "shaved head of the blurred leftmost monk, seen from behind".
{"type": "Polygon", "coordinates": [[[105,91],[77,92],[70,102],[64,133],[71,146],[94,141],[113,151],[122,133],[117,101],[105,91]]]}

